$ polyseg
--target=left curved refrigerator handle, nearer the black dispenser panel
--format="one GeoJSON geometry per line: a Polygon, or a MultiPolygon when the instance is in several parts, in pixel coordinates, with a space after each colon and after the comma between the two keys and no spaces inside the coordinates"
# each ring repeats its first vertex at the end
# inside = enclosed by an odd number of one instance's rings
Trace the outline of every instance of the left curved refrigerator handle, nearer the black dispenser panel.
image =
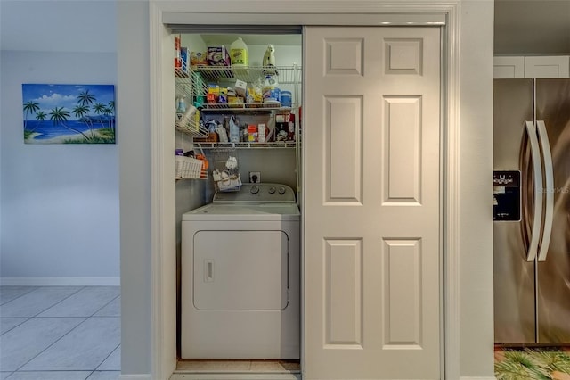
{"type": "Polygon", "coordinates": [[[534,215],[533,215],[533,232],[531,241],[528,244],[528,252],[526,252],[526,261],[534,261],[538,251],[538,243],[541,235],[542,222],[542,163],[541,151],[536,136],[536,127],[533,121],[525,121],[526,134],[531,143],[531,155],[533,158],[533,174],[534,174],[534,215]]]}

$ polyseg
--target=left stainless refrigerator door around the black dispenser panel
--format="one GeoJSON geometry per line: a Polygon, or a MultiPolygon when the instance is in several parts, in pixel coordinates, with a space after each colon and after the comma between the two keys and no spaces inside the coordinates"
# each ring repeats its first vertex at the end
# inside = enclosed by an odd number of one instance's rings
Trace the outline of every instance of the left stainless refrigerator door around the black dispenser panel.
{"type": "MultiPolygon", "coordinates": [[[[529,184],[532,180],[528,176],[532,173],[520,168],[519,152],[525,134],[525,120],[533,120],[533,81],[496,79],[493,99],[494,169],[521,170],[521,184],[529,184]]],[[[528,343],[535,340],[535,264],[526,261],[522,223],[524,221],[493,222],[497,343],[528,343]]]]}

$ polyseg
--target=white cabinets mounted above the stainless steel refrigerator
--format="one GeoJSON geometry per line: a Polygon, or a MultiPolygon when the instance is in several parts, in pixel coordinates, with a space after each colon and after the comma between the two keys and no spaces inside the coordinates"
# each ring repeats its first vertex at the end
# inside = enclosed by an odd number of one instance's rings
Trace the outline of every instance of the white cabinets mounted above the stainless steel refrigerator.
{"type": "Polygon", "coordinates": [[[493,72],[495,79],[570,78],[570,56],[496,56],[493,62],[493,72]]]}

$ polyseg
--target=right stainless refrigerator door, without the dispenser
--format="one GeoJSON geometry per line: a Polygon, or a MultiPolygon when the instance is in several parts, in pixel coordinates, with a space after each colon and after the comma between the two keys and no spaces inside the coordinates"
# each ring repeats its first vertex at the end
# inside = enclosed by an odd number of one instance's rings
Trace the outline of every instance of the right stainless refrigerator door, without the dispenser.
{"type": "Polygon", "coordinates": [[[549,250],[538,263],[538,342],[570,343],[570,80],[537,79],[536,118],[548,131],[554,178],[549,250]]]}

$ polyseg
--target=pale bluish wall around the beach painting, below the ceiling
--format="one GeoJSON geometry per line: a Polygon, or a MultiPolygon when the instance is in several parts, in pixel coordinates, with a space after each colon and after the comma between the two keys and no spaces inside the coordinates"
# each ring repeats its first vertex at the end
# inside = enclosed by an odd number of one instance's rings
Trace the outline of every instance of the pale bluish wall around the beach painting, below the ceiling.
{"type": "Polygon", "coordinates": [[[21,96],[22,83],[115,84],[116,59],[2,52],[3,284],[118,285],[118,145],[25,145],[21,96]]]}

